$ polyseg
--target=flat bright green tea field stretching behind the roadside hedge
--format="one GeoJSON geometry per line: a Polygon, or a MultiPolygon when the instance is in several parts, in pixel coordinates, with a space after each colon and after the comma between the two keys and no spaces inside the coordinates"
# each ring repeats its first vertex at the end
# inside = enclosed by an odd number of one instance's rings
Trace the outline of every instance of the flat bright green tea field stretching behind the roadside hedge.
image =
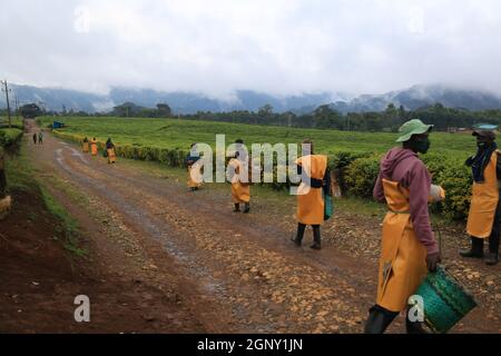
{"type": "MultiPolygon", "coordinates": [[[[52,122],[52,119],[46,117],[42,118],[42,122],[46,126],[52,122]]],[[[177,119],[58,118],[57,120],[67,126],[60,131],[96,137],[100,141],[111,137],[117,145],[181,150],[188,150],[191,142],[215,146],[217,134],[226,135],[227,145],[237,138],[244,139],[246,145],[301,142],[310,138],[314,141],[317,152],[327,155],[338,151],[384,152],[396,145],[394,144],[396,134],[386,132],[346,132],[177,119]]],[[[431,141],[432,152],[468,157],[475,151],[473,138],[464,134],[434,132],[431,141]]]]}

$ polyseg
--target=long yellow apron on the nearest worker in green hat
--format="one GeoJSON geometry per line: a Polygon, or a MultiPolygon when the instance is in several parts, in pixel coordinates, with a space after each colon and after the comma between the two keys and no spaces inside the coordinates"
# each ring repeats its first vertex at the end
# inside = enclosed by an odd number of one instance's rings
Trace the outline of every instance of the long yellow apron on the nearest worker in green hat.
{"type": "Polygon", "coordinates": [[[426,248],[414,234],[409,189],[386,179],[383,189],[390,211],[383,221],[377,305],[402,312],[426,277],[426,248]]]}

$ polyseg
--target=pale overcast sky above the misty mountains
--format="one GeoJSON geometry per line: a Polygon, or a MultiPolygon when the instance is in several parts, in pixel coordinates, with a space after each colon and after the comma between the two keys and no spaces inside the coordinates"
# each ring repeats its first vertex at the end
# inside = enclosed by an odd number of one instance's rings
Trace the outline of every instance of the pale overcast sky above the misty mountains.
{"type": "Polygon", "coordinates": [[[498,0],[2,0],[0,77],[271,93],[501,93],[498,0]]]}

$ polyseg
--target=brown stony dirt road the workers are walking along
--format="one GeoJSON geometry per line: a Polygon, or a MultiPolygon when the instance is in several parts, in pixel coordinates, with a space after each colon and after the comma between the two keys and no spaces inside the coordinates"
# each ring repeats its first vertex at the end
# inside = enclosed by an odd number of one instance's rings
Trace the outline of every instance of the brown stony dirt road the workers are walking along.
{"type": "MultiPolygon", "coordinates": [[[[380,220],[337,211],[323,227],[323,250],[314,251],[310,230],[303,248],[289,241],[293,205],[255,201],[250,214],[233,214],[229,188],[188,192],[184,182],[146,175],[120,159],[107,165],[50,135],[43,146],[29,146],[29,156],[43,179],[85,195],[78,204],[51,189],[89,236],[101,256],[97,261],[117,278],[140,274],[160,286],[176,278],[171,288],[191,325],[209,333],[363,330],[375,296],[380,220]]],[[[446,241],[451,270],[481,301],[454,332],[500,333],[500,266],[459,260],[459,239],[446,241]]],[[[151,319],[159,309],[144,306],[151,319]]],[[[161,323],[155,329],[163,332],[161,323]]],[[[402,318],[391,332],[403,332],[402,318]]]]}

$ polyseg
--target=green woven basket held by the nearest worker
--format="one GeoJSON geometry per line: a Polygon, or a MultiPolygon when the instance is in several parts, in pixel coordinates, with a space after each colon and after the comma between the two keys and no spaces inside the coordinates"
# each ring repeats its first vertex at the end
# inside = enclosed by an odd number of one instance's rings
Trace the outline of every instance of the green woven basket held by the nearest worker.
{"type": "Polygon", "coordinates": [[[434,333],[446,333],[470,313],[473,296],[443,267],[428,274],[416,295],[423,298],[424,322],[434,333]]]}

